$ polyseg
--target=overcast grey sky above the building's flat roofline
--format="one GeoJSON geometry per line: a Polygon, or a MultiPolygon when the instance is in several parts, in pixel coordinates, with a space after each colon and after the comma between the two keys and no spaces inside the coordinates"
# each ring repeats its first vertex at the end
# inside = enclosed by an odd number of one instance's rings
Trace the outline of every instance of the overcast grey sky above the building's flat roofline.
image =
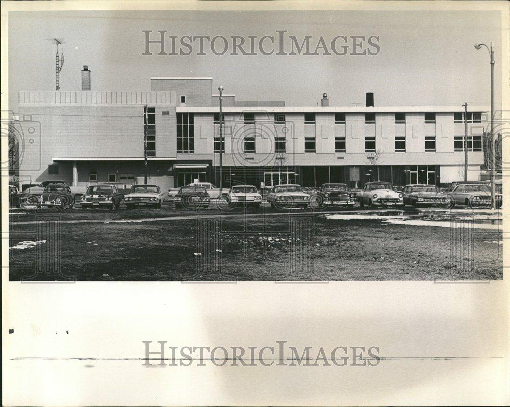
{"type": "MultiPolygon", "coordinates": [[[[80,90],[80,71],[92,71],[92,90],[150,90],[151,76],[213,77],[239,100],[285,100],[288,106],[315,106],[327,92],[330,105],[364,103],[374,92],[379,106],[490,103],[487,50],[496,45],[496,105],[500,100],[499,12],[366,11],[144,11],[10,12],[9,93],[55,90],[55,46],[60,37],[65,63],[61,90],[80,90]],[[142,30],[167,35],[286,35],[302,39],[338,35],[380,37],[376,56],[337,55],[142,55],[142,30]]],[[[315,47],[315,45],[314,45],[315,47]]],[[[153,49],[153,48],[151,48],[153,49]]],[[[154,48],[156,49],[156,47],[154,48]]],[[[14,106],[13,106],[14,107],[14,106]]]]}

